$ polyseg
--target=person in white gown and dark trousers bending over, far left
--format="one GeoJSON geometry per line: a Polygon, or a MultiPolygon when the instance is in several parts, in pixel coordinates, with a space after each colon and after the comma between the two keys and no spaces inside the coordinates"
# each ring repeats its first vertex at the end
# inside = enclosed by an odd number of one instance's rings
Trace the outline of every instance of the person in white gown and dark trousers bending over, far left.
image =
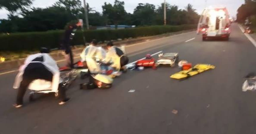
{"type": "Polygon", "coordinates": [[[52,90],[58,92],[61,99],[60,105],[69,100],[66,97],[65,89],[60,85],[59,68],[49,52],[49,49],[41,48],[40,53],[28,56],[24,65],[19,68],[13,85],[14,89],[18,89],[16,104],[13,105],[16,108],[23,105],[23,97],[30,83],[38,79],[51,82],[52,90]]]}

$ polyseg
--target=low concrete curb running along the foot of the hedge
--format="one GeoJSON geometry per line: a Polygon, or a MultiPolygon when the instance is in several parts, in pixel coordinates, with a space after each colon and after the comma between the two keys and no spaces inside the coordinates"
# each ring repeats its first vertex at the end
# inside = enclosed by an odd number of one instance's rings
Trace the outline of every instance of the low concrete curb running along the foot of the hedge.
{"type": "MultiPolygon", "coordinates": [[[[164,38],[167,36],[182,34],[182,33],[190,32],[190,31],[195,31],[195,29],[186,30],[186,31],[178,31],[178,32],[167,33],[167,34],[160,34],[160,35],[156,35],[156,36],[145,36],[145,37],[138,37],[138,38],[134,38],[134,39],[125,39],[122,41],[114,41],[114,44],[117,46],[118,45],[130,45],[130,44],[145,42],[145,41],[149,41],[149,40],[153,40],[153,39],[164,38]]],[[[105,43],[99,44],[98,46],[105,46],[105,43]]],[[[83,51],[83,49],[84,49],[84,47],[73,49],[72,51],[73,51],[74,57],[78,56],[83,51]]],[[[54,51],[50,55],[53,57],[54,60],[61,60],[64,58],[64,55],[61,54],[61,50],[54,51]]],[[[14,69],[14,68],[19,68],[19,66],[21,66],[24,63],[24,60],[25,60],[25,58],[21,58],[18,60],[11,60],[11,61],[5,61],[5,62],[0,63],[0,72],[14,69]]]]}

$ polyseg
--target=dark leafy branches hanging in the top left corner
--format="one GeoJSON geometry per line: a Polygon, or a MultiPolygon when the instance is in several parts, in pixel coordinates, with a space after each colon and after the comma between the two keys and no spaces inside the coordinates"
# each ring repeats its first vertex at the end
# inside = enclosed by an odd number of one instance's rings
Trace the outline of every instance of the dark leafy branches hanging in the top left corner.
{"type": "Polygon", "coordinates": [[[9,12],[16,12],[18,9],[25,9],[32,4],[33,0],[1,0],[0,9],[5,8],[9,12]]]}

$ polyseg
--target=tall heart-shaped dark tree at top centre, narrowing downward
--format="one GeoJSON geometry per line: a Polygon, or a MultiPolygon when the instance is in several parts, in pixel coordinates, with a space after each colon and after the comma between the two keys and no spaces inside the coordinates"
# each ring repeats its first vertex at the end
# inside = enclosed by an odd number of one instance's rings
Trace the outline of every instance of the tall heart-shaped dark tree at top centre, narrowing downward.
{"type": "Polygon", "coordinates": [[[110,24],[114,24],[117,29],[118,23],[124,19],[127,14],[124,9],[124,1],[115,0],[114,5],[107,4],[106,2],[102,6],[103,16],[106,16],[110,24]]]}

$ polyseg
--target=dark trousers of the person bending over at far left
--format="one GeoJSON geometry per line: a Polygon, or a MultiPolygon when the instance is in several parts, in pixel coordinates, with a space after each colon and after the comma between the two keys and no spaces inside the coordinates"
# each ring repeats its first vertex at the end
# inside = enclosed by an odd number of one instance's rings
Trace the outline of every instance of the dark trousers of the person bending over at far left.
{"type": "MultiPolygon", "coordinates": [[[[18,94],[16,98],[16,104],[22,105],[23,104],[23,97],[25,92],[29,86],[29,84],[36,79],[44,79],[47,81],[52,81],[53,74],[41,63],[30,63],[23,73],[23,79],[20,83],[20,87],[18,89],[18,94]]],[[[65,89],[59,85],[58,88],[58,95],[61,100],[66,99],[66,92],[65,89]]]]}

